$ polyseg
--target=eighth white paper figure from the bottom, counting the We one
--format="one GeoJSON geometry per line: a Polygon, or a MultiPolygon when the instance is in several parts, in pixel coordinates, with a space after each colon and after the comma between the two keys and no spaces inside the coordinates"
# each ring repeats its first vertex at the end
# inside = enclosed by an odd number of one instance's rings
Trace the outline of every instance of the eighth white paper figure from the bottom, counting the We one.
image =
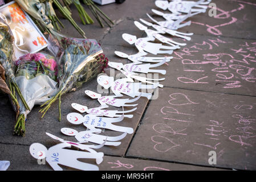
{"type": "Polygon", "coordinates": [[[169,56],[169,57],[168,56],[166,56],[166,57],[147,57],[147,56],[145,56],[145,55],[147,55],[147,52],[144,52],[144,51],[136,53],[135,55],[127,55],[126,53],[120,52],[120,51],[115,51],[115,54],[119,57],[128,58],[135,64],[140,64],[142,62],[159,63],[165,58],[166,58],[166,62],[169,62],[170,59],[173,59],[172,56],[169,56]]]}

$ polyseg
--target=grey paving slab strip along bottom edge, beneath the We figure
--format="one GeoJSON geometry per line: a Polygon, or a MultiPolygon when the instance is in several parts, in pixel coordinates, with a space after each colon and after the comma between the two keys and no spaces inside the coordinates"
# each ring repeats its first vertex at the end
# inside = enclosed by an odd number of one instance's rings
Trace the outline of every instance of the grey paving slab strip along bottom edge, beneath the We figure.
{"type": "MultiPolygon", "coordinates": [[[[29,146],[15,144],[0,144],[0,160],[9,160],[8,171],[51,171],[49,164],[38,164],[38,161],[29,154],[29,146]],[[13,152],[10,152],[13,151],[13,152]]],[[[95,160],[80,159],[82,162],[95,164],[95,160]]],[[[96,164],[97,165],[97,164],[96,164]]],[[[174,164],[153,160],[129,159],[104,156],[99,165],[100,171],[186,171],[186,170],[222,170],[220,168],[199,167],[186,164],[174,164]]],[[[64,171],[76,170],[62,166],[64,171]]]]}

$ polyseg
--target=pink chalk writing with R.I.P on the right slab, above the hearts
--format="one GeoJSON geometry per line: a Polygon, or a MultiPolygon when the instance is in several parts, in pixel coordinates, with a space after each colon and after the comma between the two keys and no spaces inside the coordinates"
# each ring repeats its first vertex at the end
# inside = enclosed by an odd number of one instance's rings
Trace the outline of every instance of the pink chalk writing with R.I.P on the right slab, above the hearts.
{"type": "MultiPolygon", "coordinates": [[[[230,44],[221,39],[208,39],[202,43],[195,43],[190,50],[197,49],[211,50],[213,47],[219,47],[220,44],[230,44]]],[[[238,48],[230,48],[231,53],[204,53],[202,59],[193,59],[193,54],[180,54],[176,57],[181,60],[184,72],[194,72],[193,77],[177,77],[177,81],[183,84],[209,84],[214,77],[199,75],[206,72],[204,65],[210,64],[215,73],[216,85],[224,89],[242,88],[243,82],[254,83],[256,81],[256,42],[243,42],[238,48]],[[187,58],[189,56],[189,58],[187,58]],[[198,76],[197,76],[198,74],[198,76]]]]}

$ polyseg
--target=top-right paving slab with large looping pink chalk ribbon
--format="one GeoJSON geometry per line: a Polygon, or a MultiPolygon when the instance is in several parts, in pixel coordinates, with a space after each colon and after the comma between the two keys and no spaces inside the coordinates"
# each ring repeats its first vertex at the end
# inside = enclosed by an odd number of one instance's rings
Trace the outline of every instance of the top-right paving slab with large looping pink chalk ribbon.
{"type": "Polygon", "coordinates": [[[217,16],[198,14],[189,20],[191,26],[180,30],[193,31],[201,35],[227,36],[233,38],[255,39],[255,1],[213,0],[217,6],[217,16]],[[246,3],[247,2],[247,3],[246,3]]]}

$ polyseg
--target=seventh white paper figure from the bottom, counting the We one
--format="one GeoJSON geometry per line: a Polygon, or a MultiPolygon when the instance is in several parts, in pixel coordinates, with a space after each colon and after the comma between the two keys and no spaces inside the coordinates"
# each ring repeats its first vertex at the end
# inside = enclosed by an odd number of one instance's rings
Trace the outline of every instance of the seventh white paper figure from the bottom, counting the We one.
{"type": "Polygon", "coordinates": [[[123,63],[116,63],[116,62],[111,62],[108,61],[109,67],[115,68],[119,71],[123,69],[125,72],[128,73],[133,73],[133,72],[139,72],[139,73],[161,73],[162,75],[166,74],[166,71],[163,69],[150,69],[150,68],[155,68],[155,67],[160,67],[165,63],[165,59],[162,60],[159,63],[156,64],[135,64],[135,63],[129,63],[129,64],[124,64],[123,63]]]}

